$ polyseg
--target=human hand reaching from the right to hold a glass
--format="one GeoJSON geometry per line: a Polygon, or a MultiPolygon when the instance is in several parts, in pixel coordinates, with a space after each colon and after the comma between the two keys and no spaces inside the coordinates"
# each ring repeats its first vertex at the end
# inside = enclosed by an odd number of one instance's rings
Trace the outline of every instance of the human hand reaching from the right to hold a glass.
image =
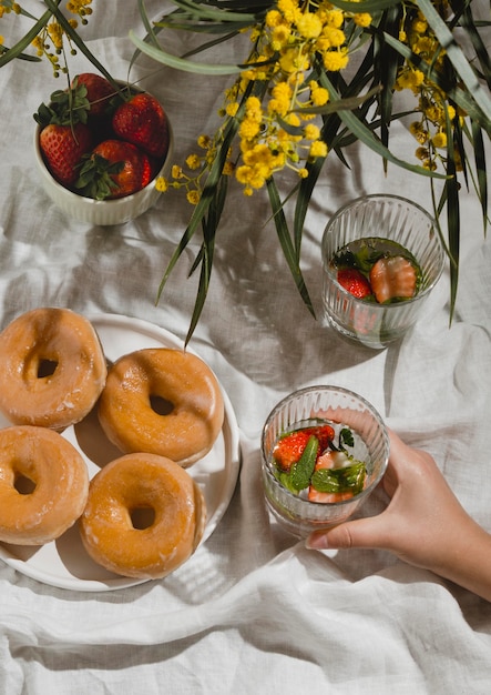
{"type": "Polygon", "coordinates": [[[377,516],[316,531],[307,547],[371,547],[431,570],[491,600],[491,536],[464,511],[434,460],[389,431],[382,485],[390,496],[377,516]]]}

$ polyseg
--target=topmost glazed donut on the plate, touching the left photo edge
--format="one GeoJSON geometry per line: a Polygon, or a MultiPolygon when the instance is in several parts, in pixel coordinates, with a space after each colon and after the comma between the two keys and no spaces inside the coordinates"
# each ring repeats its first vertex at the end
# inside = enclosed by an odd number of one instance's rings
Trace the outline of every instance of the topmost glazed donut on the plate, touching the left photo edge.
{"type": "Polygon", "coordinates": [[[69,309],[34,309],[0,333],[0,411],[16,425],[62,431],[92,410],[105,357],[90,321],[69,309]]]}

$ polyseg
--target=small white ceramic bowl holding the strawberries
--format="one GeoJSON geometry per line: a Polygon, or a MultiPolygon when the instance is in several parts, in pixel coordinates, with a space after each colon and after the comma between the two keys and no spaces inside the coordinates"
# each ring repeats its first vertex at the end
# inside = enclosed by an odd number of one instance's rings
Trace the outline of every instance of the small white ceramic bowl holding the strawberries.
{"type": "Polygon", "coordinates": [[[173,134],[171,123],[168,123],[168,150],[162,169],[141,191],[114,200],[93,200],[92,198],[78,195],[53,179],[44,163],[39,147],[40,130],[38,125],[34,132],[34,158],[41,184],[53,203],[70,218],[80,222],[89,222],[90,224],[108,226],[111,224],[123,224],[146,212],[162,195],[155,188],[155,179],[165,175],[172,165],[173,134]]]}

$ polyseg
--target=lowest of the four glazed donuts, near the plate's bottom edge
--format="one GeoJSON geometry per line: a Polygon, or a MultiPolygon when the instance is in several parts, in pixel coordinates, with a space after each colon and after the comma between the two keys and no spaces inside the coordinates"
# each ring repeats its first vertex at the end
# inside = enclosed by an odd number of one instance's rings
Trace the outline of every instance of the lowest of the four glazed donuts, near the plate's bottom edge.
{"type": "Polygon", "coordinates": [[[126,454],[92,479],[79,526],[86,552],[110,572],[156,580],[195,551],[206,517],[203,494],[180,465],[126,454]]]}

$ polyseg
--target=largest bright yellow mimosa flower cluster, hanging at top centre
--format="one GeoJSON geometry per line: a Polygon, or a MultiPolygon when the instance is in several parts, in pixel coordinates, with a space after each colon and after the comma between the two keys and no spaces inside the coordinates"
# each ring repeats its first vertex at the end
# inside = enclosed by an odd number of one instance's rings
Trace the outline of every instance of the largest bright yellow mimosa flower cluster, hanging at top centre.
{"type": "MultiPolygon", "coordinates": [[[[250,29],[254,48],[244,61],[247,67],[226,90],[221,110],[223,118],[239,121],[237,161],[228,158],[224,173],[234,172],[246,195],[285,168],[305,178],[307,163],[327,155],[320,128],[313,123],[313,109],[329,101],[319,71],[338,72],[348,64],[348,19],[359,27],[371,21],[366,12],[347,13],[327,0],[277,0],[264,22],[250,29]]],[[[200,200],[202,172],[213,161],[223,132],[224,127],[204,155],[187,161],[201,168],[197,177],[185,177],[180,170],[180,178],[174,178],[172,185],[185,185],[192,202],[200,200]]],[[[161,190],[170,185],[160,183],[161,190]]]]}

